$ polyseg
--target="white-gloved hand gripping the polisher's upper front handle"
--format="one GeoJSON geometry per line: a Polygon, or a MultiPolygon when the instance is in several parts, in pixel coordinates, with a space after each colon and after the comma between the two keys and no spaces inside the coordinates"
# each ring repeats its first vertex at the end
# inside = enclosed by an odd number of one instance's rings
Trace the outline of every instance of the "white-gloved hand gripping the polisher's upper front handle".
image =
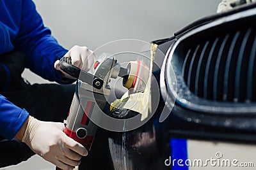
{"type": "MultiPolygon", "coordinates": [[[[65,55],[65,57],[71,57],[72,64],[84,71],[89,71],[89,69],[96,62],[97,57],[92,50],[88,49],[86,46],[73,46],[65,55]]],[[[60,60],[56,60],[54,67],[61,71],[60,60]]],[[[69,76],[61,71],[67,78],[69,76]]]]}

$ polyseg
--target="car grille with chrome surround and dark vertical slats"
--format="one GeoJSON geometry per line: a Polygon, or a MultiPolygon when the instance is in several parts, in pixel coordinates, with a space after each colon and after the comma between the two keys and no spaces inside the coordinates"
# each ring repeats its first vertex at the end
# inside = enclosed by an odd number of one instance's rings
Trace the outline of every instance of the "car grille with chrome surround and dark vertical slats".
{"type": "Polygon", "coordinates": [[[255,22],[252,9],[177,36],[162,67],[163,96],[205,113],[256,114],[255,22]]]}

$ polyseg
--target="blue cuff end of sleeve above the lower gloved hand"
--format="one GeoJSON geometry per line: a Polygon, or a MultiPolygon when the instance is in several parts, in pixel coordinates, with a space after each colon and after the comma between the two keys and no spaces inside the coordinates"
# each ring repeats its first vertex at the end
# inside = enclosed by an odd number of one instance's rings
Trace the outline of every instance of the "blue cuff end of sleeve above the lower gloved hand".
{"type": "Polygon", "coordinates": [[[10,103],[0,94],[0,134],[6,139],[13,139],[20,127],[27,120],[29,113],[10,103]]]}

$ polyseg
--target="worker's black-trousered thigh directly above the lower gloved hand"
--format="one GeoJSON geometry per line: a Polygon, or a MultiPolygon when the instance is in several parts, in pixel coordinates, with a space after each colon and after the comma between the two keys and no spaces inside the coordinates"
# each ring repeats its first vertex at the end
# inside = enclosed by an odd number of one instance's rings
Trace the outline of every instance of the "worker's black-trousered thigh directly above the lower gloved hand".
{"type": "Polygon", "coordinates": [[[24,90],[1,92],[8,101],[25,108],[38,120],[63,122],[74,96],[74,85],[35,84],[24,90]]]}

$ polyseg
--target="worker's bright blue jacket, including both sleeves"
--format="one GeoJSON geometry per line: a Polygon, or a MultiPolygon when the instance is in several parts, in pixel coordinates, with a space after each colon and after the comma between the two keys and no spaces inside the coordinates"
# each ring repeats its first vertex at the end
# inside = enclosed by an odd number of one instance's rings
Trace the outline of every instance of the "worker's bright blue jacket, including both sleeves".
{"type": "MultiPolygon", "coordinates": [[[[50,81],[61,81],[54,62],[67,50],[44,27],[31,0],[0,0],[0,57],[19,50],[26,53],[26,67],[50,81]]],[[[0,80],[1,81],[1,80],[0,80]]],[[[3,81],[3,80],[2,80],[3,81]]],[[[0,135],[12,139],[29,113],[0,94],[0,135]]]]}

